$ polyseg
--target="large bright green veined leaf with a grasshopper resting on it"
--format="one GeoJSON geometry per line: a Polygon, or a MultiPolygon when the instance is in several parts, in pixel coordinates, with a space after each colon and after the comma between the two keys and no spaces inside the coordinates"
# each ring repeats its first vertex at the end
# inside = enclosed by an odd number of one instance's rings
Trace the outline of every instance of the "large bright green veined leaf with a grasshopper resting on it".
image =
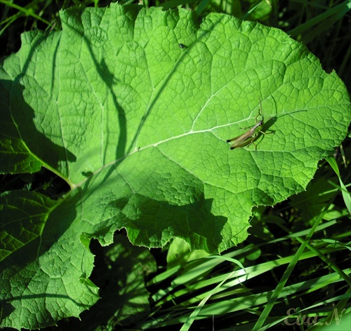
{"type": "Polygon", "coordinates": [[[61,20],[23,34],[0,71],[1,171],[44,166],[71,187],[60,201],[1,197],[1,325],[17,328],[95,303],[92,237],[126,228],[136,245],[180,237],[208,252],[244,241],[253,206],[303,191],[351,121],[343,82],[278,29],[117,4],[61,20]],[[259,100],[274,134],[231,151],[259,100]]]}

